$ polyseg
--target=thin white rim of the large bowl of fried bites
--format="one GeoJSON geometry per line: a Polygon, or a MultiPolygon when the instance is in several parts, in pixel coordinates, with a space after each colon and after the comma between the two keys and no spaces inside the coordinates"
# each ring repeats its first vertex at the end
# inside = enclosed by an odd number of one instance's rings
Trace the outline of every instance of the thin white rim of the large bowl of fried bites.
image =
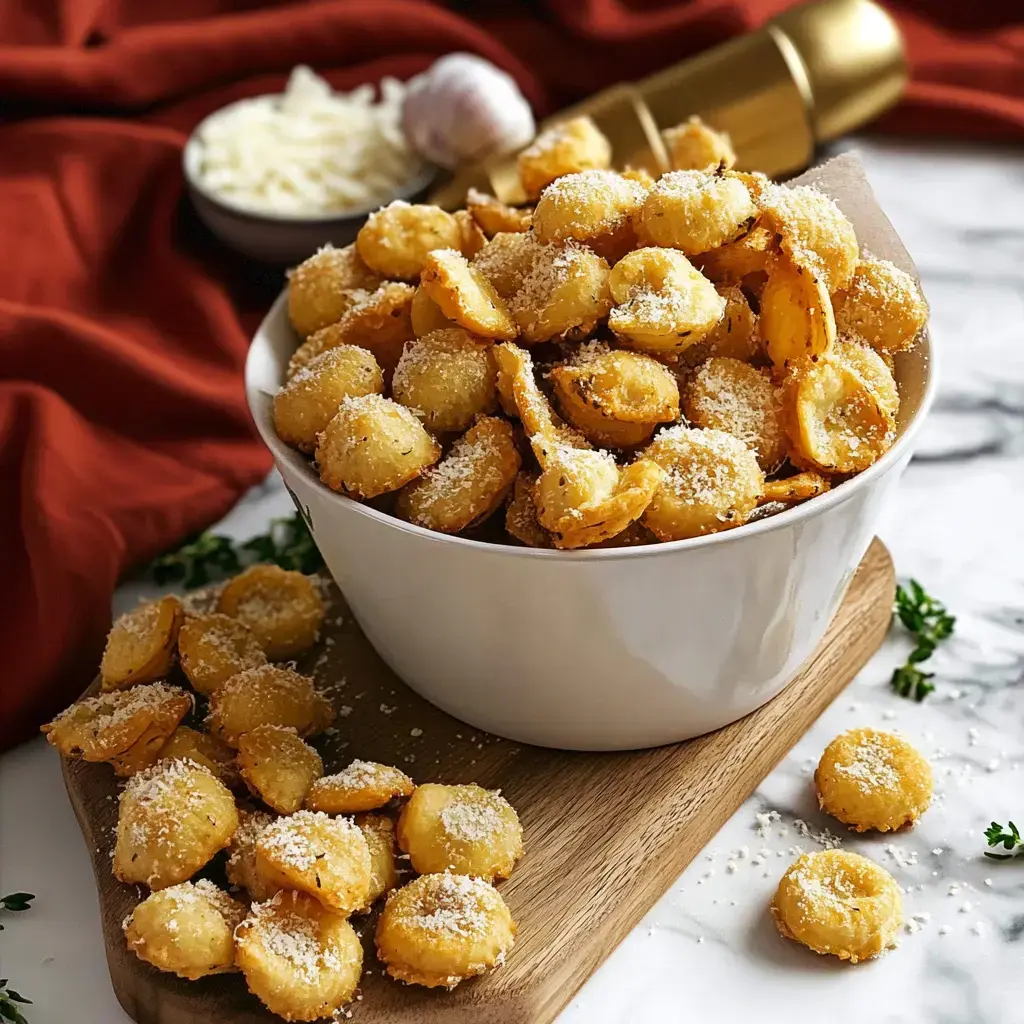
{"type": "MultiPolygon", "coordinates": [[[[254,397],[257,393],[265,392],[263,392],[262,389],[251,380],[253,376],[251,368],[255,364],[253,353],[256,351],[257,343],[260,342],[261,336],[264,334],[265,326],[271,321],[271,318],[280,317],[283,314],[283,307],[286,305],[287,301],[288,290],[286,288],[282,291],[281,295],[278,296],[266,316],[264,316],[260,326],[256,329],[256,334],[253,336],[252,344],[249,346],[249,354],[246,358],[245,371],[246,399],[249,404],[249,411],[256,424],[256,429],[259,431],[260,437],[263,438],[263,442],[270,450],[275,463],[280,460],[280,455],[282,453],[295,455],[297,458],[303,457],[299,456],[298,453],[293,453],[293,451],[276,436],[271,427],[265,427],[264,424],[260,423],[259,417],[254,409],[254,397]]],[[[854,494],[858,489],[868,486],[872,481],[881,476],[884,476],[897,462],[899,462],[901,458],[903,458],[903,456],[910,449],[922,424],[925,422],[928,412],[932,407],[932,402],[935,400],[935,394],[938,389],[938,373],[935,355],[936,350],[935,345],[932,343],[931,334],[927,328],[922,333],[918,344],[925,346],[923,352],[923,364],[925,373],[927,374],[921,403],[918,407],[918,411],[913,419],[905,425],[903,433],[897,438],[896,443],[893,444],[893,446],[884,456],[882,456],[878,462],[872,463],[867,469],[858,473],[852,479],[845,480],[838,486],[826,490],[823,495],[818,495],[816,498],[811,498],[806,502],[802,502],[801,504],[796,505],[791,509],[786,509],[783,512],[778,512],[775,515],[766,516],[764,519],[758,519],[755,522],[743,523],[743,525],[737,526],[734,529],[720,530],[717,534],[707,534],[703,537],[689,537],[682,541],[664,541],[657,544],[642,544],[623,548],[581,548],[577,550],[563,550],[557,548],[530,548],[512,544],[495,544],[490,541],[475,541],[468,537],[440,534],[437,530],[427,529],[424,526],[417,526],[415,523],[406,522],[403,519],[397,518],[397,516],[389,515],[387,512],[382,512],[370,505],[365,505],[362,502],[357,502],[355,499],[349,498],[347,495],[338,494],[338,492],[332,490],[326,484],[321,482],[318,478],[313,480],[313,484],[324,492],[325,498],[327,498],[328,501],[337,503],[345,507],[350,512],[368,516],[369,518],[382,523],[391,529],[397,529],[406,534],[411,534],[414,537],[419,537],[425,541],[433,541],[435,544],[456,545],[467,549],[482,549],[498,556],[516,558],[547,558],[555,561],[586,564],[592,561],[615,561],[622,558],[651,558],[658,555],[673,554],[675,552],[694,551],[697,548],[710,548],[721,544],[737,544],[743,540],[752,540],[761,534],[769,534],[776,529],[783,529],[787,526],[796,525],[805,519],[812,519],[817,515],[821,515],[837,505],[845,504],[849,499],[853,498],[854,494]]],[[[304,458],[303,461],[305,461],[304,458]]]]}

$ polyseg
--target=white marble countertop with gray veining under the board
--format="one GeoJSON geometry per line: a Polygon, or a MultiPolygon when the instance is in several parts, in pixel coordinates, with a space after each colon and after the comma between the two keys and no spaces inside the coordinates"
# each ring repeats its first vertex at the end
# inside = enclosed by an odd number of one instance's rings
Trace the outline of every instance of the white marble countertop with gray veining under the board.
{"type": "MultiPolygon", "coordinates": [[[[756,1019],[761,1024],[1024,1021],[1024,857],[982,856],[990,820],[1024,819],[1024,153],[862,147],[883,207],[918,261],[941,356],[940,396],[881,529],[897,570],[957,615],[923,705],[888,685],[891,638],[850,688],[584,986],[560,1024],[756,1019]],[[794,819],[831,827],[810,772],[854,725],[898,728],[930,757],[920,825],[843,845],[888,867],[911,918],[899,948],[850,967],[776,934],[766,907],[794,819]],[[759,836],[755,815],[780,820],[759,836]]],[[[291,511],[268,483],[222,527],[261,532],[291,511]]],[[[125,589],[117,605],[134,603],[125,589]]],[[[120,1024],[96,896],[57,758],[35,740],[0,759],[0,892],[38,894],[5,918],[0,974],[35,1000],[31,1024],[120,1024]]],[[[481,1024],[485,1022],[481,1019],[481,1024]]],[[[523,1022],[528,1024],[528,1022],[523,1022]]]]}

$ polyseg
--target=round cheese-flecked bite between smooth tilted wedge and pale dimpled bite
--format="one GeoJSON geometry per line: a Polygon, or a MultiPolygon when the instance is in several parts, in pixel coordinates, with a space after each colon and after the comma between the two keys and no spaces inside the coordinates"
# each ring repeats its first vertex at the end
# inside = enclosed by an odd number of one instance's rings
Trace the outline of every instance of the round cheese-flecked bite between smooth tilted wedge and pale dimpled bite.
{"type": "Polygon", "coordinates": [[[540,246],[509,304],[527,344],[589,337],[611,308],[608,264],[575,242],[540,246]]]}

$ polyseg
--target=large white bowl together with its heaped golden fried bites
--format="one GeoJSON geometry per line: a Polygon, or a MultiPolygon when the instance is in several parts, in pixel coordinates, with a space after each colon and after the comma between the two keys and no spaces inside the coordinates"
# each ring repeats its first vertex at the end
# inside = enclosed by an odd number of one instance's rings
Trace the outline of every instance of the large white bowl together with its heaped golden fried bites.
{"type": "Polygon", "coordinates": [[[615,170],[579,118],[520,154],[525,205],[383,207],[250,352],[368,638],[499,735],[648,746],[774,696],[931,400],[928,307],[854,158],[776,184],[698,121],[667,143],[676,170],[615,170]]]}

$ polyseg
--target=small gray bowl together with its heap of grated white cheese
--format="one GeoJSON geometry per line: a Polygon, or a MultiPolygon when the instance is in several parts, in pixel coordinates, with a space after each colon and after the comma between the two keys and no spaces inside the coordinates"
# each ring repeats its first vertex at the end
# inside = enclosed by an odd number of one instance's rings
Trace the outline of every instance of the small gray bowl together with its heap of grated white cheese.
{"type": "Polygon", "coordinates": [[[214,112],[183,154],[188,191],[225,245],[267,263],[347,245],[369,213],[425,193],[437,169],[401,128],[406,85],[335,92],[308,68],[285,91],[214,112]]]}

